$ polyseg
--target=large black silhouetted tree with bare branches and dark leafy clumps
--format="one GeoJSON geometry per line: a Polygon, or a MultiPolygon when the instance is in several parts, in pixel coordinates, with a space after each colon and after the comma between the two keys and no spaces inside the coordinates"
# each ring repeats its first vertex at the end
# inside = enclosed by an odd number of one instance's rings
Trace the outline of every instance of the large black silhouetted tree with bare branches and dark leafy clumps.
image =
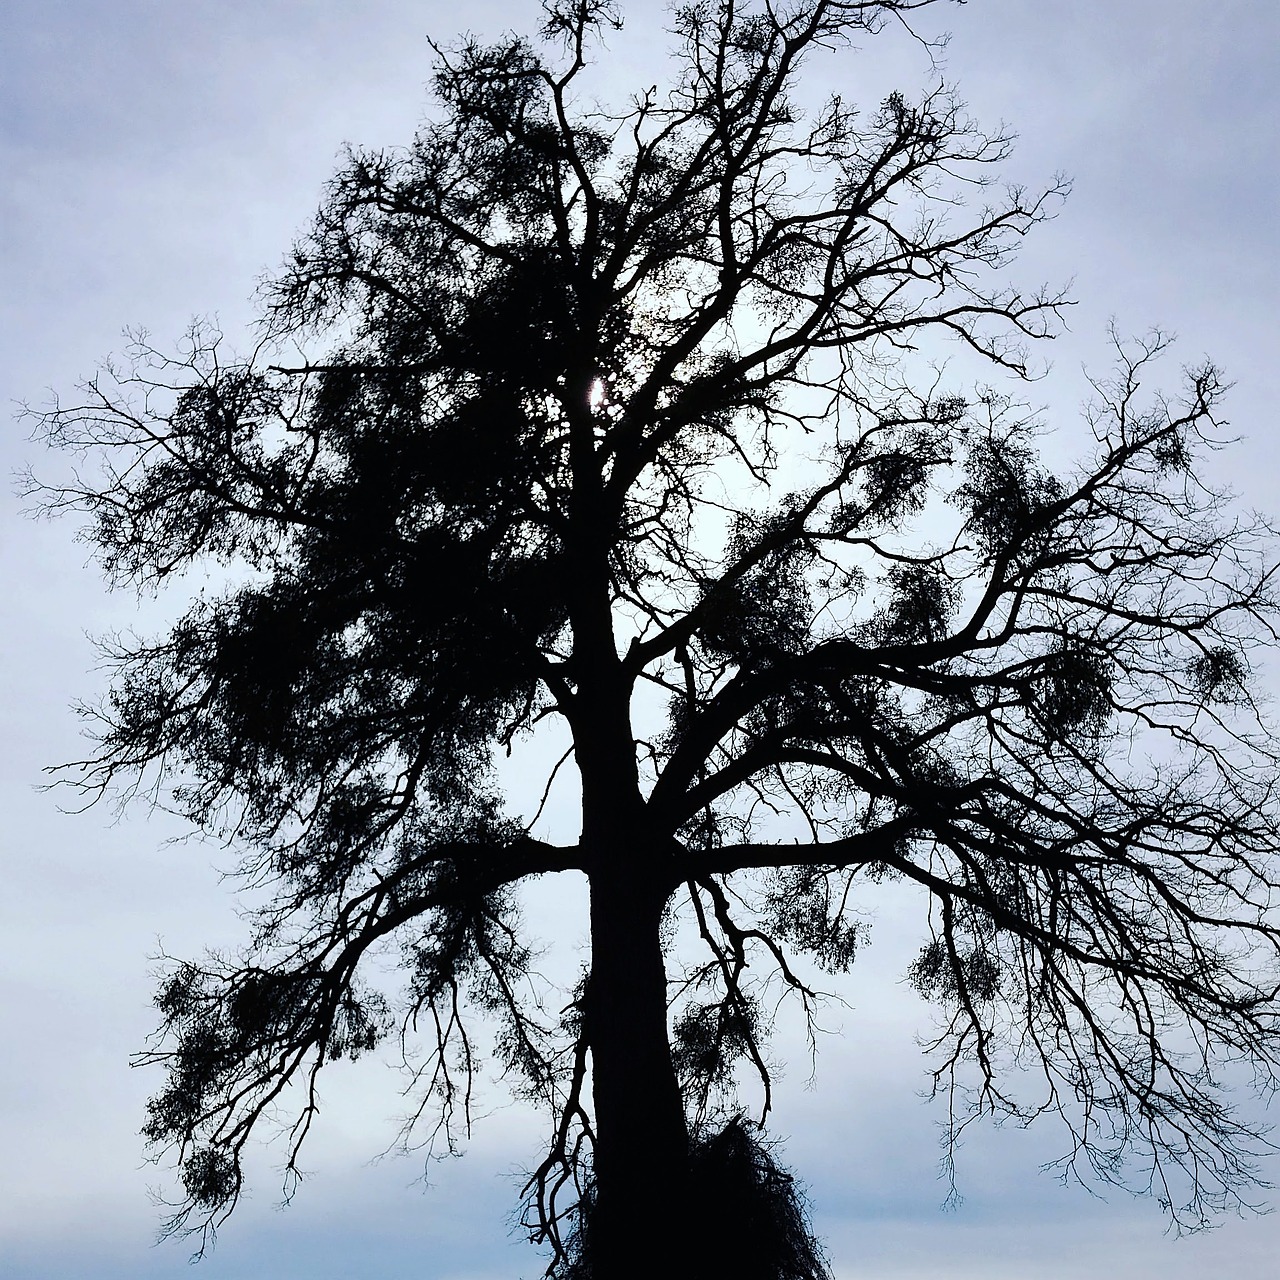
{"type": "Polygon", "coordinates": [[[956,1125],[1056,1111],[1069,1158],[1146,1152],[1192,1225],[1247,1194],[1261,1135],[1219,1071],[1276,1066],[1267,529],[1194,465],[1216,370],[1142,394],[1160,335],[1117,343],[1057,475],[1034,415],[918,355],[1029,376],[1064,305],[1006,283],[1061,195],[989,183],[1006,136],[943,90],[801,109],[806,59],[928,3],[678,5],[669,87],[612,111],[600,0],[438,50],[435,122],[349,155],[250,358],[140,342],[42,419],[101,461],[44,493],[114,581],[228,571],[109,645],[78,778],[270,888],[244,955],[157,995],[175,1228],[223,1220],[291,1106],[293,1167],[324,1064],[397,1029],[452,1142],[479,1018],[548,1112],[526,1221],[564,1275],[819,1275],[736,1091],[763,1121],[769,984],[812,1009],[884,878],[932,904],[910,977],[956,1125]],[[504,810],[518,739],[567,740],[575,842],[504,810]],[[590,884],[558,1015],[518,918],[552,873],[590,884]],[[730,1207],[732,1240],[653,1230],[730,1207]]]}

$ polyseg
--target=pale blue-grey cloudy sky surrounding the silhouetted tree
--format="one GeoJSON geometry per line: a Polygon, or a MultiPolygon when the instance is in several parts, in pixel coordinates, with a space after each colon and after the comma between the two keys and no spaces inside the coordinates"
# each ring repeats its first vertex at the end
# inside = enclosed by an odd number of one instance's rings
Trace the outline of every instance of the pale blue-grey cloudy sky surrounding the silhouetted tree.
{"type": "MultiPolygon", "coordinates": [[[[600,56],[600,92],[626,92],[660,58],[657,5],[632,3],[600,56]]],[[[529,29],[531,0],[8,0],[0,17],[0,399],[42,403],[110,352],[124,326],[160,342],[192,315],[234,337],[253,282],[307,221],[343,141],[407,141],[426,109],[426,35],[465,23],[529,29]]],[[[973,114],[1020,134],[1009,175],[1074,179],[1020,279],[1073,280],[1070,332],[1030,394],[1056,439],[1079,431],[1082,366],[1103,369],[1110,320],[1179,335],[1169,366],[1212,355],[1236,387],[1240,443],[1215,461],[1247,506],[1275,512],[1280,453],[1275,209],[1280,204],[1280,8],[1274,0],[970,0],[922,19],[948,27],[948,78],[973,114]]],[[[818,74],[817,72],[814,74],[818,74]]],[[[904,42],[842,55],[822,76],[873,105],[929,81],[904,42]]],[[[6,413],[8,475],[41,458],[6,413]]],[[[152,1018],[151,956],[233,946],[225,855],[178,841],[133,809],[61,812],[45,765],[81,753],[70,704],[101,691],[91,636],[148,609],[105,594],[67,522],[35,522],[6,488],[0,525],[0,1272],[9,1280],[151,1280],[188,1274],[188,1248],[154,1244],[137,1130],[157,1083],[131,1070],[152,1018]]],[[[141,621],[140,621],[141,618],[141,621]]],[[[1280,680],[1280,668],[1272,673],[1280,680]]],[[[581,892],[544,895],[545,936],[581,945],[581,892]]],[[[838,1280],[1075,1280],[1100,1271],[1181,1280],[1274,1275],[1280,1217],[1172,1239],[1149,1201],[1062,1188],[1039,1166],[1061,1134],[982,1129],[960,1153],[964,1194],[943,1208],[937,1107],[916,1038],[931,1012],[901,984],[920,919],[905,895],[868,901],[873,942],[828,1015],[812,1084],[788,1059],[773,1132],[809,1187],[838,1280]]],[[[312,1176],[279,1207],[278,1161],[198,1280],[426,1276],[497,1280],[540,1267],[512,1233],[538,1124],[488,1094],[467,1155],[374,1160],[392,1140],[397,1078],[381,1062],[326,1085],[312,1176]]],[[[1280,1164],[1270,1170],[1280,1181],[1280,1164]]]]}

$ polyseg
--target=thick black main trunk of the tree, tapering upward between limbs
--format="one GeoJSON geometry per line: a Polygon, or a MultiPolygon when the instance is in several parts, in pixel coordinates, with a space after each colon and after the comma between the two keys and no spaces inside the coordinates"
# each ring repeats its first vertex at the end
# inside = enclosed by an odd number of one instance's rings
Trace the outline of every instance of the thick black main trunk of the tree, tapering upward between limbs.
{"type": "Polygon", "coordinates": [[[595,1112],[582,1261],[590,1280],[694,1280],[681,1261],[689,1129],[667,1036],[660,938],[673,884],[658,863],[669,852],[652,837],[636,771],[632,682],[614,646],[611,570],[600,552],[609,539],[589,502],[580,520],[590,554],[577,566],[573,736],[582,847],[593,867],[584,1030],[595,1112]]]}

